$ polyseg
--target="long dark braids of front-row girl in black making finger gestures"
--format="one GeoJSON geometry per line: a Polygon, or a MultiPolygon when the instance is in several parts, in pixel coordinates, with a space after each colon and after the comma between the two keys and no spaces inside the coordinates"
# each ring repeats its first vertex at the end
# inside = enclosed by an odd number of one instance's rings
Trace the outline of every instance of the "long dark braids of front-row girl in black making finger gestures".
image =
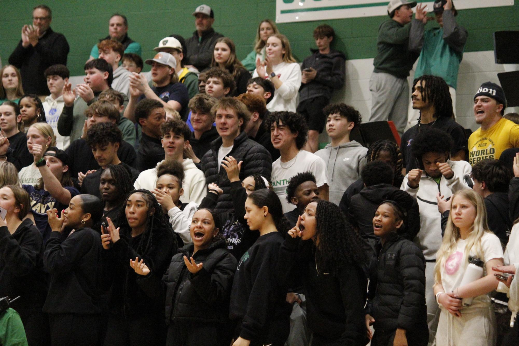
{"type": "MultiPolygon", "coordinates": [[[[155,199],[155,196],[153,196],[153,193],[149,192],[146,189],[132,190],[126,196],[125,201],[127,201],[130,198],[130,196],[133,195],[133,193],[141,193],[142,198],[144,199],[144,201],[146,202],[146,206],[148,207],[148,211],[152,212],[152,214],[148,215],[146,219],[146,228],[144,230],[144,233],[142,233],[142,237],[139,240],[137,248],[135,249],[137,253],[143,255],[146,254],[152,247],[153,234],[155,232],[161,232],[166,230],[173,234],[173,229],[171,228],[168,218],[166,218],[166,214],[162,213],[161,206],[155,199]]],[[[126,218],[126,208],[121,208],[121,211],[118,215],[118,220],[121,233],[130,234],[131,227],[130,225],[128,225],[128,219],[126,218]]],[[[173,237],[172,248],[176,247],[176,237],[173,237]]]]}

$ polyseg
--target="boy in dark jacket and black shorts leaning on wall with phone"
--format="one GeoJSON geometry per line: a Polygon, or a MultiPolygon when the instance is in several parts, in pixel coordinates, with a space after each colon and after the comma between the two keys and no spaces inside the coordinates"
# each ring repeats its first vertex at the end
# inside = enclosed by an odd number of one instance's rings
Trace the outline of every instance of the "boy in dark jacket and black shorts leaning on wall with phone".
{"type": "Polygon", "coordinates": [[[342,52],[330,49],[334,36],[330,25],[316,27],[313,38],[318,49],[310,49],[312,55],[301,66],[303,76],[297,112],[306,118],[308,141],[305,149],[311,153],[319,149],[319,133],[323,132],[328,116],[322,109],[330,103],[332,91],[343,87],[346,75],[346,57],[342,52]]]}

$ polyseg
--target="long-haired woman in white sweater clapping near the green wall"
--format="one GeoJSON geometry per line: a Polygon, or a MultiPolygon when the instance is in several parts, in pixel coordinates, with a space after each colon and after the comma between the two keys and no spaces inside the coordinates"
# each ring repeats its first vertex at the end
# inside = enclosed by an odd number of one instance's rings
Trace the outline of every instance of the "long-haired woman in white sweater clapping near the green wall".
{"type": "Polygon", "coordinates": [[[292,57],[288,38],[275,34],[267,39],[266,58],[256,61],[252,77],[270,78],[276,88],[274,98],[267,104],[270,112],[295,112],[297,92],[301,87],[301,67],[292,57]]]}

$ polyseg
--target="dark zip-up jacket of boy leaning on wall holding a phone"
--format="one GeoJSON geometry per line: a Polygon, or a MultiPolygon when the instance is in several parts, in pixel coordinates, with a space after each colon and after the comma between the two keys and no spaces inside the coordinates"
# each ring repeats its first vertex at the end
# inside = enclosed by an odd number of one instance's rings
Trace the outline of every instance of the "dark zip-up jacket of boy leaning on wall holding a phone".
{"type": "Polygon", "coordinates": [[[299,88],[299,102],[324,96],[328,100],[334,89],[344,86],[346,79],[346,57],[343,52],[331,49],[330,53],[321,54],[319,49],[310,48],[312,55],[301,65],[301,71],[313,67],[317,70],[316,78],[299,88]]]}

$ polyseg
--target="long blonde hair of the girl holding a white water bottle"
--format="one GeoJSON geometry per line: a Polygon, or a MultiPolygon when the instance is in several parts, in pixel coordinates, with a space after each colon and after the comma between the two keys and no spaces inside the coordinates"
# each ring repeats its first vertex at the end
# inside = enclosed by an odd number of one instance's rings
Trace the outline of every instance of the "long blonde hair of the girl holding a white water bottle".
{"type": "MultiPolygon", "coordinates": [[[[473,190],[463,189],[454,193],[450,198],[450,201],[454,202],[456,197],[465,198],[472,204],[476,209],[476,217],[474,224],[467,237],[467,245],[465,245],[465,255],[463,255],[462,265],[467,267],[467,258],[471,250],[475,253],[475,256],[483,259],[483,248],[481,247],[481,238],[485,233],[491,233],[487,223],[486,207],[483,197],[478,195],[473,190]]],[[[434,266],[434,283],[441,283],[440,269],[445,265],[447,258],[456,251],[457,242],[460,239],[459,228],[453,223],[453,209],[452,203],[450,205],[450,214],[447,220],[447,226],[445,228],[445,234],[443,236],[442,245],[440,250],[436,253],[436,265],[434,266]]]]}

